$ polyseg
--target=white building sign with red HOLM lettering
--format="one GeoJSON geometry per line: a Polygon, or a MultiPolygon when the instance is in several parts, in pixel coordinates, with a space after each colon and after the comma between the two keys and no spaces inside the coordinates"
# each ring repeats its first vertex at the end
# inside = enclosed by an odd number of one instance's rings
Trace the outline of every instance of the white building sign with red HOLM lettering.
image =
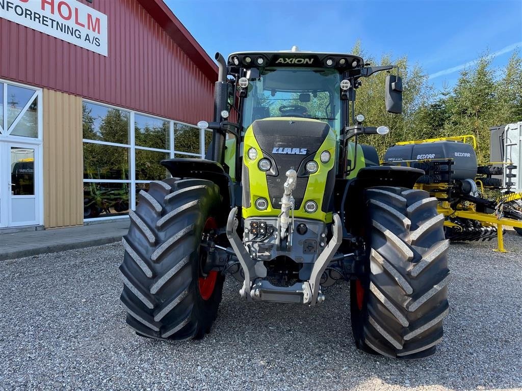
{"type": "Polygon", "coordinates": [[[76,0],[0,0],[0,17],[107,55],[107,16],[76,0]]]}

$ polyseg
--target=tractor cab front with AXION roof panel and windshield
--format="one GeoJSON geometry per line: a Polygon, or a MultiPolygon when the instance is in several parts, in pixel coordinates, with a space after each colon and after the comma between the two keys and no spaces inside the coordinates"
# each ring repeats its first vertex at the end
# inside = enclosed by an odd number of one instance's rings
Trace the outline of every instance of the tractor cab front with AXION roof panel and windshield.
{"type": "Polygon", "coordinates": [[[243,130],[258,119],[310,118],[324,121],[339,137],[341,92],[349,89],[347,83],[341,89],[340,83],[362,58],[299,52],[294,47],[290,52],[234,53],[228,63],[232,69],[236,64],[244,69],[239,80],[243,130]]]}

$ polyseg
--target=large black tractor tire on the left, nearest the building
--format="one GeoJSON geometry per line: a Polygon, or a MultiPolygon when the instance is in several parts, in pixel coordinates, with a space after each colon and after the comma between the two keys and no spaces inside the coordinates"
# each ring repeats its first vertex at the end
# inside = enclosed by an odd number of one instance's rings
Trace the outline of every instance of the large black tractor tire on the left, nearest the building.
{"type": "Polygon", "coordinates": [[[184,340],[210,332],[224,277],[203,274],[200,242],[217,228],[220,207],[219,189],[208,180],[168,178],[139,193],[120,266],[121,303],[138,335],[184,340]]]}

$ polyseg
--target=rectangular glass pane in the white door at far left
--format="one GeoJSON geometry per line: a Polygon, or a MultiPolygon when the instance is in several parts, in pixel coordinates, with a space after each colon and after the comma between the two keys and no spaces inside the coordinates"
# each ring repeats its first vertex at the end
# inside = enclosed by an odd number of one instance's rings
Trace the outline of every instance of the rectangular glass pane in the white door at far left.
{"type": "Polygon", "coordinates": [[[11,193],[34,196],[34,150],[11,146],[11,193]]]}

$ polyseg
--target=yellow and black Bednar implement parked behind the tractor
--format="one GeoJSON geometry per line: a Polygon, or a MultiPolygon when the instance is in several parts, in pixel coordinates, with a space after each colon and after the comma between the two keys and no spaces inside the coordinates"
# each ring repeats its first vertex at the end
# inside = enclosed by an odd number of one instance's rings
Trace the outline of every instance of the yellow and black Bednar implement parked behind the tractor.
{"type": "Polygon", "coordinates": [[[511,175],[512,162],[477,167],[473,135],[399,142],[388,149],[384,164],[421,168],[425,175],[416,188],[438,200],[437,209],[446,219],[446,237],[452,241],[491,240],[494,251],[506,252],[504,227],[522,235],[522,193],[503,188],[495,176],[511,175]],[[486,193],[500,196],[487,198],[486,193]]]}

